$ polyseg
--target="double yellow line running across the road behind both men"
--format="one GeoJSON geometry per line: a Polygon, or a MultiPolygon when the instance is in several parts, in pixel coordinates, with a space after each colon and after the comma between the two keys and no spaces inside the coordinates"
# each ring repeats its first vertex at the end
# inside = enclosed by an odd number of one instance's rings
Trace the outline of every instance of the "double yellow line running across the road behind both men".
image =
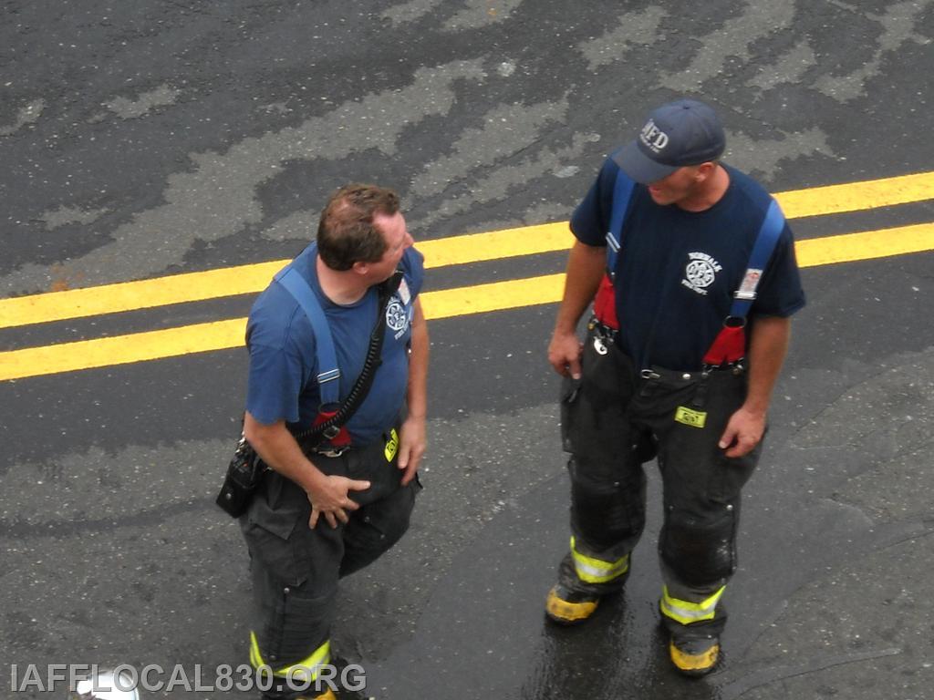
{"type": "MultiPolygon", "coordinates": [[[[780,192],[788,218],[820,217],[934,199],[934,173],[780,192]]],[[[566,221],[474,233],[418,244],[426,267],[517,258],[565,250],[566,221]]],[[[862,231],[799,241],[801,267],[884,258],[934,249],[934,223],[862,231]]],[[[0,329],[149,309],[190,301],[255,294],[288,260],[184,273],[104,287],[88,287],[0,300],[0,329]]],[[[563,274],[548,274],[422,294],[429,319],[482,314],[560,300],[563,274]]],[[[244,342],[245,318],[74,343],[0,352],[0,381],[64,371],[225,350],[244,342]]]]}

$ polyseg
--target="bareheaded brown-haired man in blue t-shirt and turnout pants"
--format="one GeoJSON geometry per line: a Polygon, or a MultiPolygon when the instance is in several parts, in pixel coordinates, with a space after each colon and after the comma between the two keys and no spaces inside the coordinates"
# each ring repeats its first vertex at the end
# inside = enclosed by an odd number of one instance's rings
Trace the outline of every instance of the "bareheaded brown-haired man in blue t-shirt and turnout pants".
{"type": "Polygon", "coordinates": [[[412,245],[392,190],[339,189],[317,241],[249,315],[244,435],[269,469],[240,525],[253,580],[250,662],[272,676],[269,700],[334,697],[319,681],[331,664],[338,581],[408,527],[429,356],[424,266],[412,245]],[[342,414],[325,440],[304,442],[342,414]]]}

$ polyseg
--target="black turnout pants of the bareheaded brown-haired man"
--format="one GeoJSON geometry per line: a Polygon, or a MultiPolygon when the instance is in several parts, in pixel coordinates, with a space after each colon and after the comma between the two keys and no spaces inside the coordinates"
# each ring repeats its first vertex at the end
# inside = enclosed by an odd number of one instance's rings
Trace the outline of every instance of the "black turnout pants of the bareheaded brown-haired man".
{"type": "MultiPolygon", "coordinates": [[[[292,665],[314,668],[330,663],[330,631],[337,582],[375,561],[408,528],[420,485],[402,486],[391,436],[343,455],[311,455],[328,475],[368,480],[366,491],[351,492],[361,504],[347,511],[347,525],[333,528],[320,517],[308,527],[311,505],[296,483],[269,470],[240,526],[250,553],[253,609],[250,619],[250,659],[268,665],[284,678],[292,665]]],[[[312,672],[314,675],[314,671],[312,672]]],[[[323,690],[323,689],[322,689],[323,690]]],[[[264,697],[315,696],[279,692],[264,697]]]]}

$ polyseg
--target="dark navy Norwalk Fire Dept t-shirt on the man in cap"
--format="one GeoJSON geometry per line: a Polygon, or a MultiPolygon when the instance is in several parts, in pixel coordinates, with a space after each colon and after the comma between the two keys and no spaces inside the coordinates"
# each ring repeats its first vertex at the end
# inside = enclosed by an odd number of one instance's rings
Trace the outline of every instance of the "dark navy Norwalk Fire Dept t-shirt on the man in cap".
{"type": "MultiPolygon", "coordinates": [[[[616,259],[616,343],[640,368],[701,369],[729,315],[771,196],[748,175],[724,167],[729,188],[702,212],[659,205],[644,185],[632,192],[616,259]]],[[[617,173],[611,156],[574,210],[571,230],[581,243],[606,245],[617,173]]],[[[785,223],[748,320],[792,315],[802,306],[794,238],[785,223]]]]}

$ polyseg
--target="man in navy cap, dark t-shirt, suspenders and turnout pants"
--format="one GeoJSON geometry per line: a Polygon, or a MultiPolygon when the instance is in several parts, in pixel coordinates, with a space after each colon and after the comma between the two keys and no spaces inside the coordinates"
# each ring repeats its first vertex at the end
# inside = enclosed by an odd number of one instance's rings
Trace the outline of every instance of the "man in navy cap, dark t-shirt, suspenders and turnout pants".
{"type": "Polygon", "coordinates": [[[659,609],[672,663],[690,676],[719,658],[740,493],[762,449],[790,316],[804,305],[785,218],[720,161],[725,147],[714,109],[682,99],[603,162],[571,219],[548,346],[565,377],[572,537],[546,614],[581,623],[621,590],[644,528],[643,465],[657,458],[659,609]]]}

